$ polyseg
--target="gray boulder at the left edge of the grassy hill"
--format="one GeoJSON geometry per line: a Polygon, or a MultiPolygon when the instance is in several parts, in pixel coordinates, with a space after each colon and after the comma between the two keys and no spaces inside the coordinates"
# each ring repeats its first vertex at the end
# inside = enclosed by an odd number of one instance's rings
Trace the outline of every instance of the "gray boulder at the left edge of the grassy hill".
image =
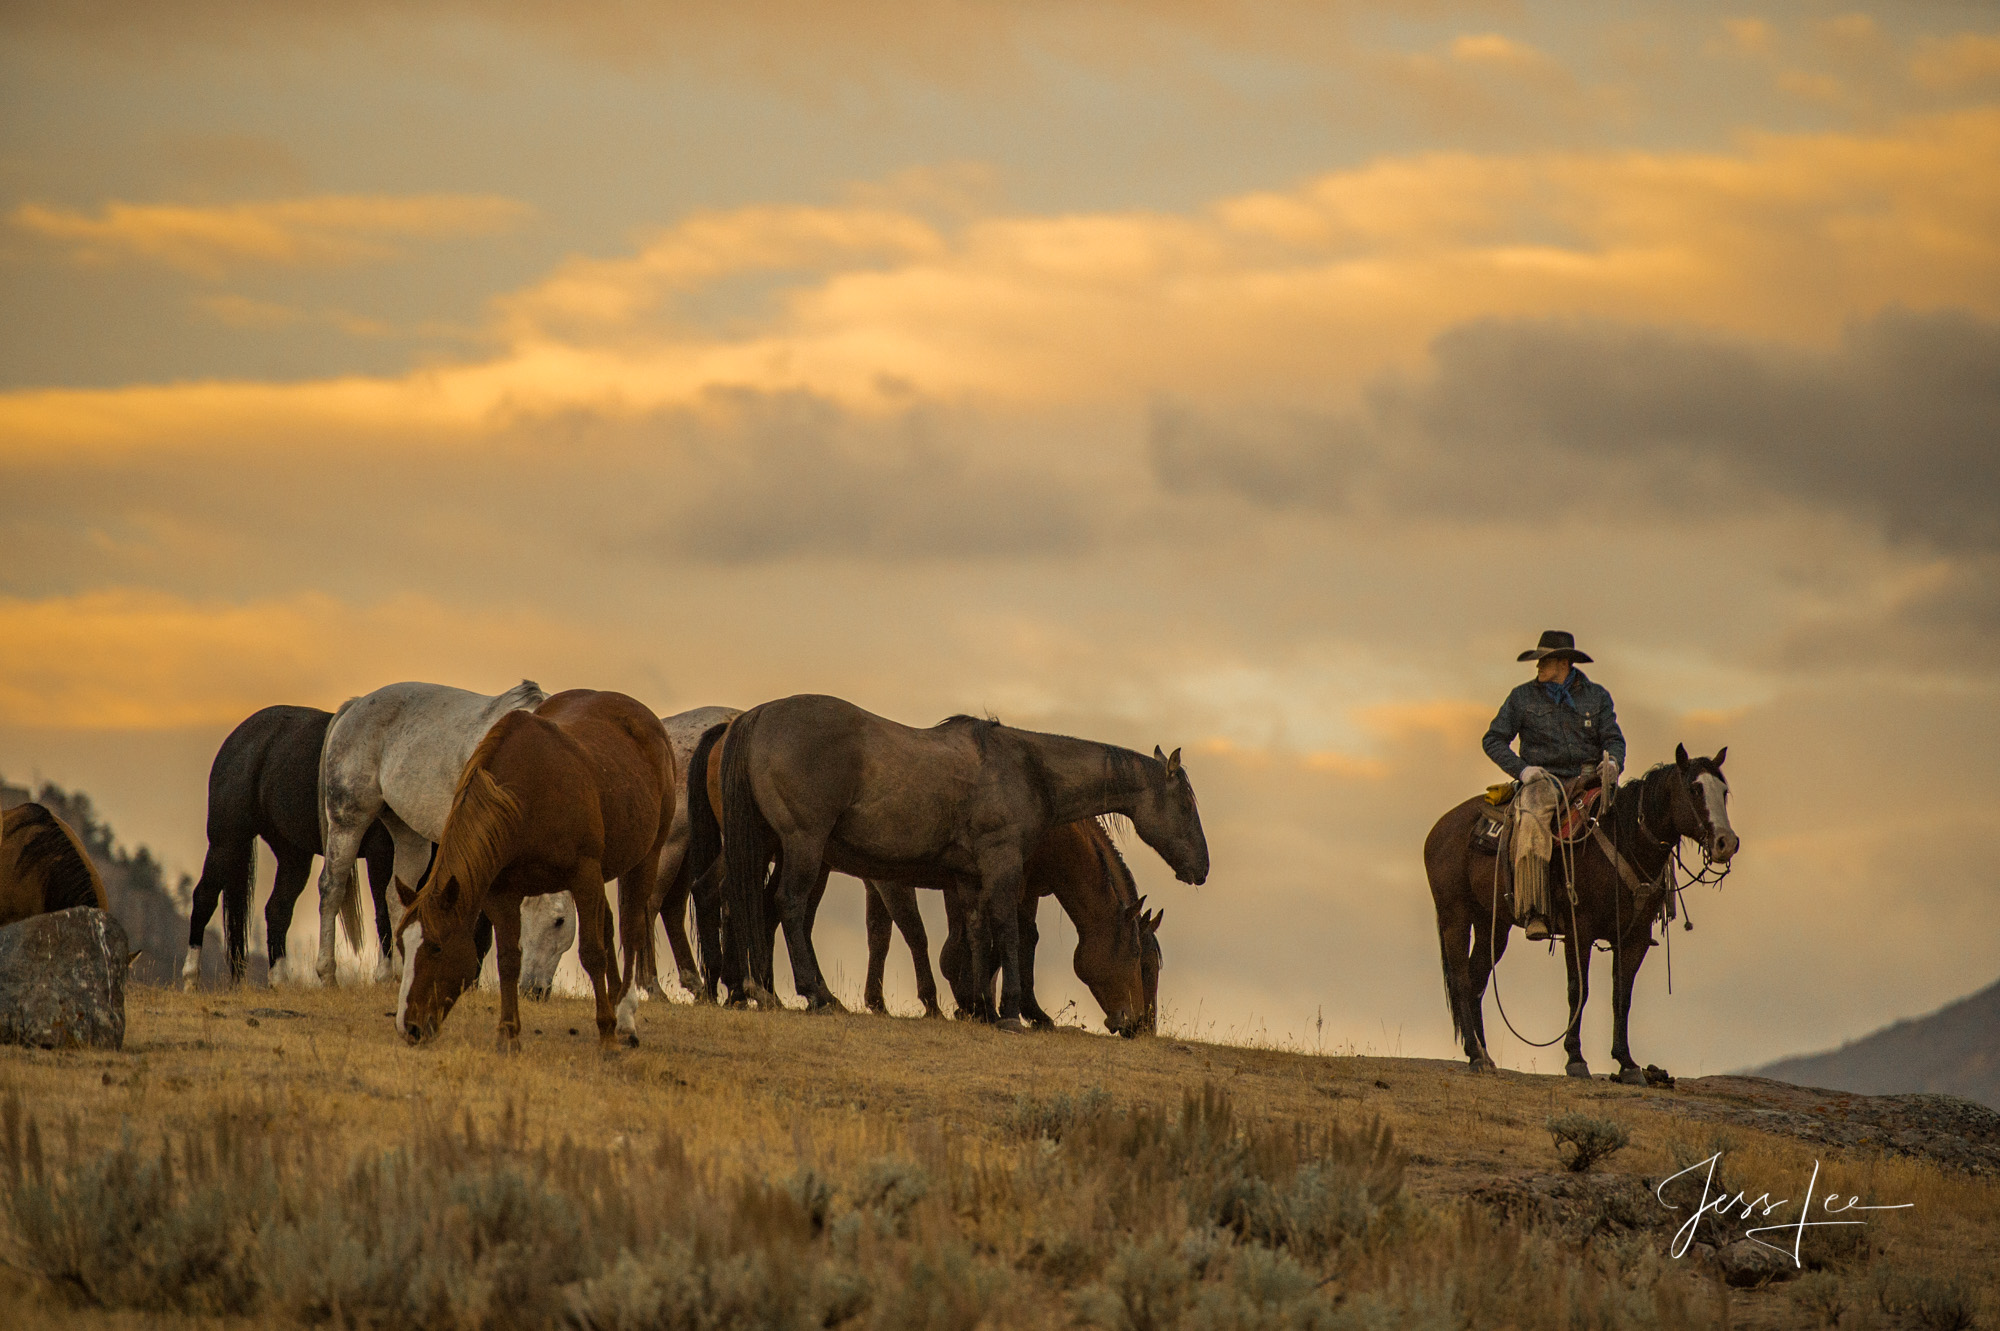
{"type": "Polygon", "coordinates": [[[92,905],[0,929],[0,1045],[124,1047],[124,927],[92,905]]]}

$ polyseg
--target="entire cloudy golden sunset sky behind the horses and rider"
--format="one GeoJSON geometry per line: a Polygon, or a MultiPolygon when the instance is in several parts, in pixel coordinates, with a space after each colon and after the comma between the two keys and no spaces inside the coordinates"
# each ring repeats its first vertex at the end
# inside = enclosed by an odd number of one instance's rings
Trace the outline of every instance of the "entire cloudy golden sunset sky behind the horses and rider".
{"type": "MultiPolygon", "coordinates": [[[[1568,628],[1634,769],[1730,745],[1642,1061],[1994,979],[1990,6],[0,28],[0,771],[172,865],[274,701],[992,711],[1186,747],[1170,1021],[1442,1057],[1422,839],[1568,628]]],[[[1502,991],[1560,1029],[1560,961],[1502,991]]]]}

